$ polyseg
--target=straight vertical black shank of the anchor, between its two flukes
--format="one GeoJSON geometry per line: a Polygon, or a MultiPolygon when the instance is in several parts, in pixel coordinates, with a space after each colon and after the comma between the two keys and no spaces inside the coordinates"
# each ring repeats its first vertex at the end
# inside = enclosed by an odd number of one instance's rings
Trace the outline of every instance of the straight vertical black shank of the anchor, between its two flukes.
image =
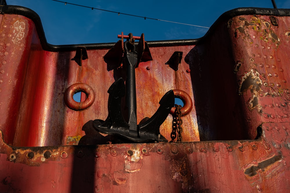
{"type": "Polygon", "coordinates": [[[128,107],[128,124],[130,125],[129,133],[134,137],[138,137],[137,128],[137,102],[136,102],[136,79],[135,67],[137,64],[138,54],[135,52],[126,52],[126,104],[128,107]]]}

